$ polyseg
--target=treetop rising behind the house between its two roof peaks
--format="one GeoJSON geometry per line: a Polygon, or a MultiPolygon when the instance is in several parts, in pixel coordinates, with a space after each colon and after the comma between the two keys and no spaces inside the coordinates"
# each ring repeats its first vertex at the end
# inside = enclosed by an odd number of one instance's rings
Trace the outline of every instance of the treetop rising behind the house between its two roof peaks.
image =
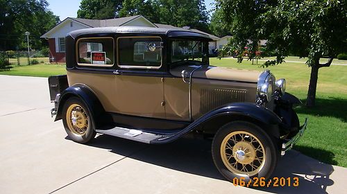
{"type": "Polygon", "coordinates": [[[118,17],[121,0],[82,0],[77,17],[85,19],[111,19],[118,17]]]}

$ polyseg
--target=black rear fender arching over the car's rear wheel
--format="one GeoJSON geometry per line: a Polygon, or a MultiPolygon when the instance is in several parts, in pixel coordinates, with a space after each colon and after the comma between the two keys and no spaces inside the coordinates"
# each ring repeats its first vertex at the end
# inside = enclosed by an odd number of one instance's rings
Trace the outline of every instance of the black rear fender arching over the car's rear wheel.
{"type": "MultiPolygon", "coordinates": [[[[87,106],[88,111],[90,112],[93,121],[99,120],[101,116],[105,113],[105,109],[100,103],[99,98],[96,97],[92,89],[87,87],[86,85],[74,85],[68,87],[62,94],[60,94],[58,106],[57,106],[57,114],[54,121],[58,121],[62,119],[62,107],[66,103],[66,101],[71,97],[80,98],[83,103],[87,106]]],[[[99,122],[94,122],[96,127],[99,122]]]]}

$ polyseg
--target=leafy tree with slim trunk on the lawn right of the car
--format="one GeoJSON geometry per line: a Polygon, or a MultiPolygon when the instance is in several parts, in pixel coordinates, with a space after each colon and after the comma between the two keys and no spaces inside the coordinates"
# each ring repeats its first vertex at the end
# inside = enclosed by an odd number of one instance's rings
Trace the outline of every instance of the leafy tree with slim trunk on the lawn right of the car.
{"type": "MultiPolygon", "coordinates": [[[[314,106],[319,69],[347,51],[346,1],[217,0],[217,5],[233,35],[227,51],[242,53],[245,46],[257,51],[258,42],[267,39],[266,49],[276,60],[265,67],[282,63],[289,54],[307,57],[311,76],[306,105],[314,106]],[[321,64],[323,56],[329,60],[321,64]]],[[[238,58],[242,62],[242,55],[238,58]]]]}

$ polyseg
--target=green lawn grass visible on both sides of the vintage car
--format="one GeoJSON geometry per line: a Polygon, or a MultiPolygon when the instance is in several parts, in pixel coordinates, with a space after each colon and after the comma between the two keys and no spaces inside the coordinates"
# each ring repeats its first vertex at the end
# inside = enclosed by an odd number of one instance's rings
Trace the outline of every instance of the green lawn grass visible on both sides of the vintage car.
{"type": "MultiPolygon", "coordinates": [[[[276,78],[286,78],[287,92],[294,94],[305,103],[310,80],[310,68],[305,65],[305,59],[289,57],[286,60],[288,62],[285,64],[267,69],[270,69],[276,78]]],[[[262,62],[264,61],[259,61],[258,64],[262,62]]],[[[347,64],[347,61],[334,60],[332,63],[347,64]]],[[[21,62],[21,64],[23,63],[21,62]]],[[[244,60],[242,64],[238,64],[232,58],[221,60],[211,58],[210,64],[219,67],[264,70],[257,64],[252,65],[250,61],[244,60]]],[[[10,71],[0,71],[0,74],[48,77],[66,73],[64,64],[45,63],[13,67],[10,71]]],[[[347,167],[347,66],[332,65],[328,68],[321,68],[319,70],[316,106],[313,108],[296,107],[296,112],[301,122],[308,118],[309,123],[307,131],[294,148],[327,164],[347,167]]]]}

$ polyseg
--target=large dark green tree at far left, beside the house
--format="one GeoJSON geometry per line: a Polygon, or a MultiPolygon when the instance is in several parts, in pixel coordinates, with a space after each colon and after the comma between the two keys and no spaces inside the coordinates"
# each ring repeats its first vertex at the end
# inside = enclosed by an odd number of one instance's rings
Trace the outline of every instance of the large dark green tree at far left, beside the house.
{"type": "Polygon", "coordinates": [[[26,31],[31,33],[32,48],[47,44],[40,36],[59,21],[48,5],[45,0],[0,0],[0,50],[19,49],[26,42],[26,31]]]}

